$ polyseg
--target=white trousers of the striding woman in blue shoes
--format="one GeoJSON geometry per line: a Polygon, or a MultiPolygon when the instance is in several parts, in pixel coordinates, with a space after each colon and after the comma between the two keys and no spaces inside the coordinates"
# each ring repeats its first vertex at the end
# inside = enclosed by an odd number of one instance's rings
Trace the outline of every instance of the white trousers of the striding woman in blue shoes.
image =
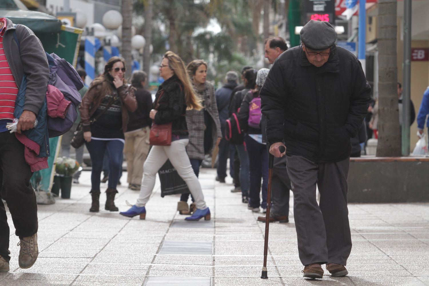
{"type": "Polygon", "coordinates": [[[155,187],[155,178],[158,170],[164,165],[167,159],[177,170],[183,181],[187,184],[190,193],[195,199],[196,208],[205,209],[204,195],[198,178],[190,165],[189,157],[186,153],[186,145],[189,139],[172,141],[171,146],[153,146],[145,161],[142,187],[136,206],[141,208],[146,205],[155,187]]]}

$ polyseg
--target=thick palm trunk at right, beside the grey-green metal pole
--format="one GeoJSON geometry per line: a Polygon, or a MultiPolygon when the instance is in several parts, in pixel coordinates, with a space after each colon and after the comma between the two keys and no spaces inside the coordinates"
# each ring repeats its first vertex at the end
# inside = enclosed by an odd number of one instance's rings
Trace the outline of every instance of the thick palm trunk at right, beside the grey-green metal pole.
{"type": "Polygon", "coordinates": [[[378,0],[378,145],[377,157],[401,156],[396,84],[396,0],[378,0]]]}

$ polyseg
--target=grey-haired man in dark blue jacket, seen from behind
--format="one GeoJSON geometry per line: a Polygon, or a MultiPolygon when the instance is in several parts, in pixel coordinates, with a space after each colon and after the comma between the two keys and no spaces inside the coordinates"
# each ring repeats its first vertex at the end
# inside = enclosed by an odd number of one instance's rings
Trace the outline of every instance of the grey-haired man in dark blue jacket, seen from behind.
{"type": "MultiPolygon", "coordinates": [[[[227,72],[225,76],[226,84],[223,87],[219,88],[215,92],[216,96],[216,104],[218,105],[219,111],[219,120],[221,121],[221,131],[222,131],[222,139],[221,143],[219,143],[219,160],[218,160],[218,181],[225,182],[225,177],[227,177],[227,160],[228,154],[230,153],[230,147],[227,139],[225,139],[225,124],[226,120],[229,117],[228,114],[228,106],[230,104],[230,97],[233,89],[237,86],[238,74],[234,71],[227,72]]],[[[233,158],[230,160],[230,165],[233,164],[233,158]]],[[[230,170],[233,170],[230,168],[230,170]]]]}

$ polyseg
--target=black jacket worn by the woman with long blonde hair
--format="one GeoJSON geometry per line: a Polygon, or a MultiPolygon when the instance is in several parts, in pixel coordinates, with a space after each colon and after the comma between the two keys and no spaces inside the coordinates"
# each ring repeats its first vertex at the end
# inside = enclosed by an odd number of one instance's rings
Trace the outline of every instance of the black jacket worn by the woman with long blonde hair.
{"type": "Polygon", "coordinates": [[[160,85],[153,108],[158,111],[155,115],[155,123],[163,124],[172,122],[172,134],[188,135],[185,117],[185,93],[183,84],[176,75],[173,75],[160,85]],[[159,99],[162,91],[164,93],[159,99]]]}

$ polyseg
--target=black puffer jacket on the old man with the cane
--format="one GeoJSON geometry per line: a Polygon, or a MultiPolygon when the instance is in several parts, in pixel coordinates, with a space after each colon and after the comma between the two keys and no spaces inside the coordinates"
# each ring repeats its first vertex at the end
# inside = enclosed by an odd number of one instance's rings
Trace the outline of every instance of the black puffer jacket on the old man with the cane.
{"type": "Polygon", "coordinates": [[[331,48],[329,60],[312,65],[301,47],[275,60],[260,91],[270,144],[284,141],[287,153],[317,162],[350,156],[371,100],[360,62],[344,48],[331,48]]]}

